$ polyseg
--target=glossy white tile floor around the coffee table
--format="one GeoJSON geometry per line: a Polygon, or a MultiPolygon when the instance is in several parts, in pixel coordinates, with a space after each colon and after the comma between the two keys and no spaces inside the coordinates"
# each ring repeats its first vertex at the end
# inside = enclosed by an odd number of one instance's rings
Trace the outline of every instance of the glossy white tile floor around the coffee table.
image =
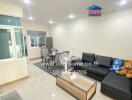
{"type": "MultiPolygon", "coordinates": [[[[29,63],[29,78],[0,88],[0,94],[17,90],[23,100],[76,100],[67,92],[56,86],[56,79],[44,72],[33,63],[40,60],[32,60],[29,63]]],[[[112,100],[100,92],[100,83],[97,84],[97,92],[92,100],[112,100]]]]}

